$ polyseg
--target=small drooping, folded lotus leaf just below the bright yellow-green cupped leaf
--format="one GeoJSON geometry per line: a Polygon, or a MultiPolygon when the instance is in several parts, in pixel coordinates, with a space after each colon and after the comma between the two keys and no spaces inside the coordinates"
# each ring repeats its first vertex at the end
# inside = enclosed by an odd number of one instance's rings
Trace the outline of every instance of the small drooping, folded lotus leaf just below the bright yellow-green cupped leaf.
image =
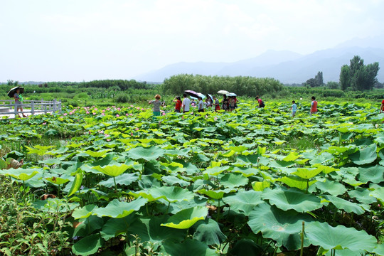
{"type": "Polygon", "coordinates": [[[204,242],[206,245],[220,245],[220,243],[227,239],[227,236],[221,232],[218,223],[209,218],[199,220],[196,223],[196,231],[193,233],[193,239],[204,242]]]}

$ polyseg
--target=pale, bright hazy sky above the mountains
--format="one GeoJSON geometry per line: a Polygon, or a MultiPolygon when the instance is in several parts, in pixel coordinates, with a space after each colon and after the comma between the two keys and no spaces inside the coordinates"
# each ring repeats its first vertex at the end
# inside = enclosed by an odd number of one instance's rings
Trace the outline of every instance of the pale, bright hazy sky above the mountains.
{"type": "MultiPolygon", "coordinates": [[[[384,0],[1,0],[0,82],[132,79],[384,35],[384,0]]],[[[384,44],[384,42],[383,42],[384,44]]]]}

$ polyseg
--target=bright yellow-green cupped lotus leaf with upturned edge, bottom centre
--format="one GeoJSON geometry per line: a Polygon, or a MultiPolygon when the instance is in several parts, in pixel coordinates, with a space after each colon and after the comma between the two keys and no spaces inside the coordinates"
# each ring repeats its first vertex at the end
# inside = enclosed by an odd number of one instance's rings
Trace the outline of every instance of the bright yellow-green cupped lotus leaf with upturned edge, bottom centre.
{"type": "Polygon", "coordinates": [[[204,206],[196,206],[181,210],[175,215],[171,216],[167,221],[168,223],[161,224],[169,228],[186,229],[191,228],[198,220],[204,220],[208,215],[208,208],[204,206]]]}

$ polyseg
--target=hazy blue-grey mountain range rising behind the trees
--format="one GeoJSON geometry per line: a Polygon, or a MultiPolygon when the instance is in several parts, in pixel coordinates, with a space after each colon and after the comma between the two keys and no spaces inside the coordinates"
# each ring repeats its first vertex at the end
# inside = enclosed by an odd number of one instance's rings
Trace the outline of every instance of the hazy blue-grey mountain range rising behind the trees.
{"type": "Polygon", "coordinates": [[[233,63],[174,63],[159,70],[137,76],[136,80],[163,81],[177,74],[199,75],[246,75],[257,78],[275,78],[285,84],[302,83],[323,72],[324,82],[336,81],[342,65],[349,65],[353,56],[359,55],[364,64],[378,62],[379,82],[384,82],[384,36],[375,38],[354,38],[335,48],[319,50],[301,55],[289,50],[267,50],[255,58],[233,63]]]}

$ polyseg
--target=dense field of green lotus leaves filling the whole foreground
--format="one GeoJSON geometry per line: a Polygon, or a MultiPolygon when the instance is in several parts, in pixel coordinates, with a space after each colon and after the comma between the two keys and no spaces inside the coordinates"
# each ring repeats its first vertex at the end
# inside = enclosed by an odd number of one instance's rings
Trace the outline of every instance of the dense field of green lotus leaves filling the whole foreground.
{"type": "Polygon", "coordinates": [[[384,255],[384,114],[298,106],[2,119],[0,252],[384,255]]]}

